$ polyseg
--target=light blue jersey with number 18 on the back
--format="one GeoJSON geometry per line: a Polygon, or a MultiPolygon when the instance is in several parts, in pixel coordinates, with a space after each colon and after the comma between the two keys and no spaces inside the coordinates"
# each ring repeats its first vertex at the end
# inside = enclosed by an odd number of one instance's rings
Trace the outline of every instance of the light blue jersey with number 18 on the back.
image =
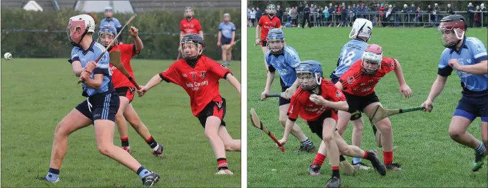
{"type": "Polygon", "coordinates": [[[368,44],[361,39],[352,39],[342,46],[341,55],[337,60],[337,68],[330,74],[330,78],[339,78],[346,73],[351,65],[363,57],[368,44]]]}

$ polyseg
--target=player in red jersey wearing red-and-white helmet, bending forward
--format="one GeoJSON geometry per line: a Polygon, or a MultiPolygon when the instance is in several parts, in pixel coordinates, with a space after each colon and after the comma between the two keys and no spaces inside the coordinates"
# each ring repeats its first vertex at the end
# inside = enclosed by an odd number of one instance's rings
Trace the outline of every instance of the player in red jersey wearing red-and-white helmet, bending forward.
{"type": "MultiPolygon", "coordinates": [[[[339,122],[337,129],[339,133],[344,133],[351,113],[361,111],[368,117],[373,113],[371,109],[377,104],[381,105],[375,94],[375,86],[379,79],[387,73],[395,71],[398,83],[400,84],[400,93],[404,97],[411,97],[412,90],[406,84],[402,67],[397,59],[383,57],[383,50],[377,44],[370,44],[366,47],[362,59],[355,62],[340,78],[335,85],[340,88],[349,104],[346,113],[339,113],[339,122]]],[[[388,118],[376,123],[381,133],[381,144],[383,145],[384,164],[387,169],[400,170],[400,164],[393,163],[393,129],[388,118]]]]}

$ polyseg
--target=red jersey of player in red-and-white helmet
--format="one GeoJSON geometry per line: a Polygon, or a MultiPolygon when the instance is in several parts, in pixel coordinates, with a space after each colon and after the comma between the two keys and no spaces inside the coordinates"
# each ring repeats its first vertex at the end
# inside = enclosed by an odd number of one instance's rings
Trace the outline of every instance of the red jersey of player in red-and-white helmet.
{"type": "Polygon", "coordinates": [[[395,59],[383,57],[382,66],[376,74],[367,75],[363,73],[361,59],[359,59],[339,78],[339,82],[344,87],[342,91],[357,96],[369,95],[375,92],[375,86],[379,82],[379,79],[382,79],[384,75],[395,70],[396,67],[397,62],[395,59]]]}

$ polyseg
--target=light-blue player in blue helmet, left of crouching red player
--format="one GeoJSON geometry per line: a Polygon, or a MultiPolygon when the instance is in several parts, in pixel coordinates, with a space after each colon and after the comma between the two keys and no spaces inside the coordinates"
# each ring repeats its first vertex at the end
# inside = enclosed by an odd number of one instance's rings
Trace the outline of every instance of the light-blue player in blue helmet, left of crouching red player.
{"type": "MultiPolygon", "coordinates": [[[[268,32],[268,53],[265,55],[265,62],[268,66],[268,78],[266,79],[266,86],[263,93],[261,93],[261,99],[266,98],[267,94],[270,94],[271,84],[274,80],[274,73],[278,71],[281,83],[281,92],[287,91],[288,88],[294,87],[297,81],[297,68],[300,63],[300,57],[296,50],[290,46],[285,46],[285,34],[283,30],[274,28],[268,32]]],[[[296,89],[295,89],[296,90],[296,89]]],[[[292,91],[295,91],[292,90],[292,91]]],[[[290,97],[279,97],[279,122],[283,127],[288,119],[288,107],[290,106],[290,97]]],[[[297,124],[293,125],[292,135],[301,142],[299,152],[315,152],[315,145],[313,142],[303,134],[300,127],[297,124]]]]}

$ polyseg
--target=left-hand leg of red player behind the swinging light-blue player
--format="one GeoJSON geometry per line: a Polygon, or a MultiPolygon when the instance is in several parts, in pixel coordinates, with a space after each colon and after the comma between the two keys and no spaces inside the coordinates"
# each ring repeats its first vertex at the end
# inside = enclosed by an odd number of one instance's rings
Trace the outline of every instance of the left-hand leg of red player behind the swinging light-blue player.
{"type": "Polygon", "coordinates": [[[120,141],[122,141],[122,149],[124,149],[128,153],[132,153],[131,147],[129,146],[129,130],[127,129],[127,122],[124,118],[124,111],[126,109],[126,106],[129,104],[129,99],[122,96],[120,96],[119,99],[120,107],[117,115],[115,115],[115,123],[117,124],[120,141]]]}

